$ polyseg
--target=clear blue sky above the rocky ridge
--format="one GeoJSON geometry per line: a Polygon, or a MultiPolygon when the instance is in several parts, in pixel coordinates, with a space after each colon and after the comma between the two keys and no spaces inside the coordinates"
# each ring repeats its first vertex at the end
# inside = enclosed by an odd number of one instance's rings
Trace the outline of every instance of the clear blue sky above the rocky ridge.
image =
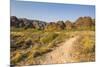
{"type": "Polygon", "coordinates": [[[95,6],[11,0],[11,16],[47,22],[75,21],[81,16],[95,18],[95,6]]]}

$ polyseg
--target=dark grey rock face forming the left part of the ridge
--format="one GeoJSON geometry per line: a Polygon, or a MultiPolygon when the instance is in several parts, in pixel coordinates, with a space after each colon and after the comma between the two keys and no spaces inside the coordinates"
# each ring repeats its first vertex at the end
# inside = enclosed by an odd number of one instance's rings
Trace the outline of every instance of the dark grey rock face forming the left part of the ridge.
{"type": "Polygon", "coordinates": [[[16,16],[11,16],[10,19],[11,19],[11,21],[10,21],[11,26],[16,27],[16,28],[24,27],[25,29],[35,28],[35,29],[43,30],[47,24],[44,21],[29,20],[26,18],[17,18],[16,16]]]}

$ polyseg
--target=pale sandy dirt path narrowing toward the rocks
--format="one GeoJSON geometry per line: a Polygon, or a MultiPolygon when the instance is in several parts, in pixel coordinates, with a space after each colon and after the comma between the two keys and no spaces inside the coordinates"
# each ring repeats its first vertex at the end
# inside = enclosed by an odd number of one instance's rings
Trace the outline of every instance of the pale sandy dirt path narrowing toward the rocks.
{"type": "Polygon", "coordinates": [[[62,46],[57,47],[52,52],[44,55],[45,60],[41,61],[40,64],[57,64],[57,63],[68,63],[74,62],[74,60],[70,59],[70,53],[73,50],[73,45],[75,41],[79,38],[79,36],[75,36],[73,38],[67,39],[62,46]]]}

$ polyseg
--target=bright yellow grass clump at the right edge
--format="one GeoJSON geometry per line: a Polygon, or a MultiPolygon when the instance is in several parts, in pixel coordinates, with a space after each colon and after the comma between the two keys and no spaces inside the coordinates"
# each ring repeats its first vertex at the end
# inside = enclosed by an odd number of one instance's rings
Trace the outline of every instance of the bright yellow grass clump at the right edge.
{"type": "Polygon", "coordinates": [[[85,32],[81,36],[80,45],[83,46],[86,53],[95,52],[95,35],[94,32],[85,32]],[[82,36],[83,35],[83,36],[82,36]]]}

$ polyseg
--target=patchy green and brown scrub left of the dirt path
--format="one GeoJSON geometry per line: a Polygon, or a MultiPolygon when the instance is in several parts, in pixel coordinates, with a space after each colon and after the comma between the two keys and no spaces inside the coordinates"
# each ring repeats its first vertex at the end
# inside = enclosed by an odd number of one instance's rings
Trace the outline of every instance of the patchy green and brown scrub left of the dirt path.
{"type": "Polygon", "coordinates": [[[11,54],[11,64],[37,64],[37,57],[52,51],[57,44],[68,37],[65,33],[11,32],[11,53],[15,53],[11,54]]]}

